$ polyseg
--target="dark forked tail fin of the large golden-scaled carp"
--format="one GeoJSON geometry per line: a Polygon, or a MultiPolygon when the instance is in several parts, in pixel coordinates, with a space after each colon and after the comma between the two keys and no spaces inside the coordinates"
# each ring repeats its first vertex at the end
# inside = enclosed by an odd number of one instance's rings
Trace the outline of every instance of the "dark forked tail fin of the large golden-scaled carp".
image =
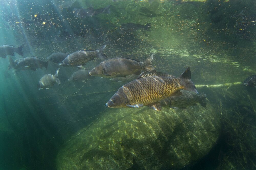
{"type": "Polygon", "coordinates": [[[183,89],[192,91],[198,94],[195,84],[191,81],[190,66],[179,76],[179,78],[182,78],[185,83],[185,86],[183,89]]]}

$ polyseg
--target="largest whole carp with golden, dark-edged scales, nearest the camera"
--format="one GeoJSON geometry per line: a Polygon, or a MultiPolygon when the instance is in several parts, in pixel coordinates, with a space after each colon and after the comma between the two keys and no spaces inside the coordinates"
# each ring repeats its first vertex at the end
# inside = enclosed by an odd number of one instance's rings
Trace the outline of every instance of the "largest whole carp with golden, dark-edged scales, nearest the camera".
{"type": "Polygon", "coordinates": [[[106,103],[111,108],[136,108],[148,106],[154,110],[162,109],[160,100],[170,96],[182,95],[180,89],[198,93],[191,81],[188,67],[178,78],[150,76],[133,80],[118,89],[106,103]]]}

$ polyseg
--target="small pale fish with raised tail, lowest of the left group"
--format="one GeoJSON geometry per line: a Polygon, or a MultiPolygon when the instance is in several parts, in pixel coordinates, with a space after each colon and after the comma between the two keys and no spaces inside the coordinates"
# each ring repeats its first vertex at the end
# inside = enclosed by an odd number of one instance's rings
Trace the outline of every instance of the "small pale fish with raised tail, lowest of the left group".
{"type": "Polygon", "coordinates": [[[60,68],[58,68],[55,75],[52,75],[52,74],[44,75],[38,83],[38,87],[40,87],[38,90],[41,90],[41,89],[48,90],[55,83],[60,84],[60,79],[58,78],[59,70],[60,70],[60,68]]]}

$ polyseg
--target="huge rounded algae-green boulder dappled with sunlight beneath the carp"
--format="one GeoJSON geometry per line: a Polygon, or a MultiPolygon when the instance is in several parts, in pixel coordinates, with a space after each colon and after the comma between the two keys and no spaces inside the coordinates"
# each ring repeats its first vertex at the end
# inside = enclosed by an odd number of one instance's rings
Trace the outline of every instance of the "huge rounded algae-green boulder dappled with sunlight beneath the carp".
{"type": "Polygon", "coordinates": [[[220,136],[207,107],[108,109],[66,141],[57,169],[180,169],[205,156],[220,136]]]}

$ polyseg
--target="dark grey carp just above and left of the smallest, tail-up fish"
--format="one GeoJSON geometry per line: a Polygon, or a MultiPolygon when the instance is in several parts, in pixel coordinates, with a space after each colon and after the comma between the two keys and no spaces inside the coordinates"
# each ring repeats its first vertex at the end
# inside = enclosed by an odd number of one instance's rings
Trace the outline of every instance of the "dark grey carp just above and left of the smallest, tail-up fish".
{"type": "Polygon", "coordinates": [[[21,60],[18,61],[18,63],[16,64],[16,67],[19,67],[21,69],[30,69],[33,71],[36,71],[37,68],[41,68],[45,67],[47,70],[47,66],[48,66],[48,61],[44,62],[43,60],[41,60],[40,58],[37,58],[35,56],[32,57],[26,57],[23,58],[21,60]]]}

